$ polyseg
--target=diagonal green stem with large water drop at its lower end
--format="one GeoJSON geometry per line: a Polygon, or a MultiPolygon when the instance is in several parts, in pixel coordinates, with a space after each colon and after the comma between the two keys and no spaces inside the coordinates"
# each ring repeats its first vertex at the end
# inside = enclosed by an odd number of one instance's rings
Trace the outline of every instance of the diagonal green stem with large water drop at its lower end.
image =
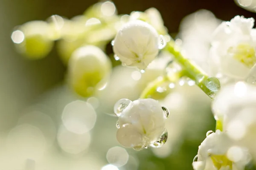
{"type": "Polygon", "coordinates": [[[183,57],[180,51],[177,51],[175,49],[175,42],[173,40],[167,43],[166,49],[169,51],[169,53],[173,54],[175,61],[179,63],[184,70],[186,70],[186,76],[194,80],[196,85],[198,85],[198,87],[201,88],[201,90],[204,91],[205,94],[207,94],[211,99],[213,99],[215,93],[218,91],[218,88],[220,87],[218,79],[216,79],[215,77],[209,77],[190,59],[183,57]],[[214,79],[214,81],[211,82],[211,79],[214,79]]]}

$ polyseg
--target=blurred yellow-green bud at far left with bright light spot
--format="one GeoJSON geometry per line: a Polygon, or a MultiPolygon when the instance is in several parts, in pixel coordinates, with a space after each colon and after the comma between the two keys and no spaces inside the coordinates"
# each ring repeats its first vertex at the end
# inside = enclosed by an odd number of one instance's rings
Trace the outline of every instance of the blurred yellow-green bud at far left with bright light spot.
{"type": "Polygon", "coordinates": [[[12,33],[17,50],[29,59],[41,59],[52,50],[51,28],[44,21],[31,21],[12,33]]]}

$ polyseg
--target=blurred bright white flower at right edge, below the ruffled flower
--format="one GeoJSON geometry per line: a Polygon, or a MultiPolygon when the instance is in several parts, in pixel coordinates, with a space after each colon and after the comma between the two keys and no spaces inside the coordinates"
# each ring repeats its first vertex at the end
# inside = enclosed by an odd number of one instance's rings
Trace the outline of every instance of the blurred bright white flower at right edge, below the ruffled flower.
{"type": "Polygon", "coordinates": [[[215,119],[228,136],[250,149],[256,158],[256,87],[244,82],[221,89],[212,105],[215,119]]]}

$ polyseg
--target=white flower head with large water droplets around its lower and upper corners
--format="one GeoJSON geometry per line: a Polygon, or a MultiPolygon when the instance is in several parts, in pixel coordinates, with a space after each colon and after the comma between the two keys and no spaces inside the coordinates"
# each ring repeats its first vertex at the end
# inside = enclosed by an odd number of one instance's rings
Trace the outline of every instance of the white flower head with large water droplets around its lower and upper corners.
{"type": "Polygon", "coordinates": [[[125,147],[141,150],[144,147],[160,147],[167,140],[165,118],[169,112],[154,99],[116,102],[114,112],[119,117],[117,140],[125,147]]]}

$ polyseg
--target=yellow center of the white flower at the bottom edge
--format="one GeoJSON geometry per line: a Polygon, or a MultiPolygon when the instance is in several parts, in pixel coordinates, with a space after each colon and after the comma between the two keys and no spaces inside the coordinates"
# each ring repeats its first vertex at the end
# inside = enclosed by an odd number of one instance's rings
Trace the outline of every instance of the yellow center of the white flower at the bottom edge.
{"type": "Polygon", "coordinates": [[[211,155],[214,166],[219,170],[221,167],[229,166],[232,169],[232,161],[227,159],[225,155],[211,155]]]}

